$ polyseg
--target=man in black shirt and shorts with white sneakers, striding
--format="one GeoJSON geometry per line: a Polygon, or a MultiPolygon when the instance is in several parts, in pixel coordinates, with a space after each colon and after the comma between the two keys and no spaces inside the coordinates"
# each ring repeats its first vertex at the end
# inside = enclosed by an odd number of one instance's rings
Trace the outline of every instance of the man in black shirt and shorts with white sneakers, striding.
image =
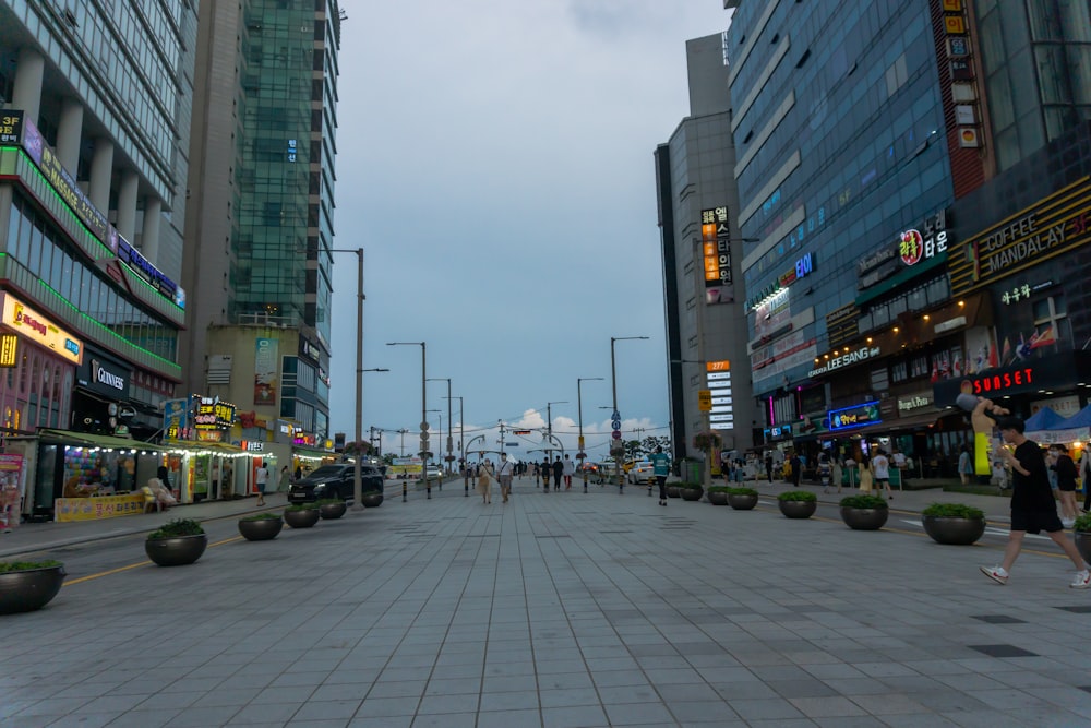
{"type": "MultiPolygon", "coordinates": [[[[992,407],[992,403],[987,406],[992,407]]],[[[993,411],[1007,414],[1002,408],[993,408],[993,411]]],[[[1042,449],[1036,442],[1027,439],[1023,434],[1023,421],[1018,417],[1005,417],[997,426],[1004,443],[1009,445],[999,449],[999,456],[1011,467],[1011,530],[1004,549],[1004,561],[997,566],[981,566],[981,572],[998,584],[1007,584],[1011,565],[1022,549],[1023,537],[1028,533],[1039,534],[1044,530],[1076,565],[1076,577],[1069,586],[1074,589],[1088,588],[1091,586],[1091,572],[1076,544],[1065,535],[1060,518],[1057,517],[1042,449]]]]}

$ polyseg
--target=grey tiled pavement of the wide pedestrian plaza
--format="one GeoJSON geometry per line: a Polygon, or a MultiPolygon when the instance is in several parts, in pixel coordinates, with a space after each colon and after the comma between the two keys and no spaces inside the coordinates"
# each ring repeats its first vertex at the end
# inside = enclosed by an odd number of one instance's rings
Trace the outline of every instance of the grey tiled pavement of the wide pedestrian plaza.
{"type": "Polygon", "coordinates": [[[0,725],[1091,723],[1091,593],[1067,560],[1029,544],[999,586],[976,569],[999,538],[939,546],[914,513],[1004,500],[907,491],[853,532],[760,489],[742,512],[529,479],[484,505],[458,482],[254,544],[227,517],[252,501],[202,504],[177,513],[212,518],[213,546],[175,569],[122,533],[164,516],[23,526],[0,557],[45,548],[70,576],[0,618],[0,725]],[[96,526],[115,538],[83,542],[96,526]]]}

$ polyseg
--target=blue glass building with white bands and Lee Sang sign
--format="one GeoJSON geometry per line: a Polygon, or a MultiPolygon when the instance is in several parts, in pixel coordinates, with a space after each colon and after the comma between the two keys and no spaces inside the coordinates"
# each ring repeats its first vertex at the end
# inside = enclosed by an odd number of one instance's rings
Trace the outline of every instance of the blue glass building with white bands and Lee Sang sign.
{"type": "Polygon", "coordinates": [[[751,369],[770,450],[829,446],[842,408],[866,406],[852,416],[861,426],[914,414],[899,399],[915,402],[910,391],[927,385],[919,359],[946,346],[890,333],[949,299],[937,242],[954,200],[949,89],[933,4],[726,3],[736,7],[727,55],[739,225],[755,240],[742,260],[751,369]],[[913,264],[900,248],[910,230],[927,249],[913,264]]]}

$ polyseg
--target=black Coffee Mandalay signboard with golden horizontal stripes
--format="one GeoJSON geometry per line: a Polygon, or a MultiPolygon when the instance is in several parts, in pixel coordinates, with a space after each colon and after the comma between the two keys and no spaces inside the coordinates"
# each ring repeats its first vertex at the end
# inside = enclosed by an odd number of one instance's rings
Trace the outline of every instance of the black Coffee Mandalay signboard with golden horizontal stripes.
{"type": "Polygon", "coordinates": [[[951,295],[961,296],[1091,242],[1091,177],[1026,207],[959,244],[951,295]]]}

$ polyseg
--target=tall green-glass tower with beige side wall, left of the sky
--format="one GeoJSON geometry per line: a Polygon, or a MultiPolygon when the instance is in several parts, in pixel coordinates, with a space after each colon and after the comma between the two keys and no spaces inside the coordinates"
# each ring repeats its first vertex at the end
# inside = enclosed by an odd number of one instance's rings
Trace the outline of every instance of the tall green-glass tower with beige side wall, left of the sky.
{"type": "Polygon", "coordinates": [[[336,0],[206,0],[183,279],[187,383],[285,464],[328,437],[336,0]]]}

